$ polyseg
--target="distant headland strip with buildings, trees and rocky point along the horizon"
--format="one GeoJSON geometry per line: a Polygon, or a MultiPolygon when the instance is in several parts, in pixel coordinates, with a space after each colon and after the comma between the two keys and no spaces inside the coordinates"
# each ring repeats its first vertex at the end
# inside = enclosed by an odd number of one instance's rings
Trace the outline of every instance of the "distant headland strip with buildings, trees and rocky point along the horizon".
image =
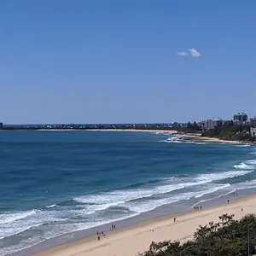
{"type": "Polygon", "coordinates": [[[180,141],[256,143],[256,117],[248,119],[247,113],[235,113],[233,119],[207,119],[193,123],[154,124],[55,124],[55,125],[3,125],[2,131],[154,131],[192,134],[177,138],[180,141]]]}

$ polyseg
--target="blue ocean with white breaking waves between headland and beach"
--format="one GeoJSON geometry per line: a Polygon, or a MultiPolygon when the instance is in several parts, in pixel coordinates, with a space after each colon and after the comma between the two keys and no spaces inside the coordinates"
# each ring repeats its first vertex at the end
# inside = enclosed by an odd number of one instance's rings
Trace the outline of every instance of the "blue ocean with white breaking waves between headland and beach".
{"type": "Polygon", "coordinates": [[[187,211],[256,188],[255,145],[180,143],[177,137],[1,131],[0,255],[69,232],[143,219],[150,212],[187,211]]]}

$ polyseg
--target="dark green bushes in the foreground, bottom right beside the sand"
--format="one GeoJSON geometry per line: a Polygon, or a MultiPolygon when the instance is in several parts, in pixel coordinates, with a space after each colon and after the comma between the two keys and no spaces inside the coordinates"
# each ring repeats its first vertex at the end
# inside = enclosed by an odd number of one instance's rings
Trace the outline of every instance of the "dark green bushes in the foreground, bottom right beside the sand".
{"type": "MultiPolygon", "coordinates": [[[[241,220],[234,215],[219,216],[219,222],[200,226],[195,240],[152,242],[148,251],[139,256],[246,256],[255,253],[256,217],[248,214],[241,220]],[[248,242],[249,241],[249,242],[248,242]],[[249,245],[249,246],[248,246],[249,245]],[[249,254],[248,254],[249,247],[249,254]]],[[[170,230],[172,232],[172,230],[170,230]]]]}

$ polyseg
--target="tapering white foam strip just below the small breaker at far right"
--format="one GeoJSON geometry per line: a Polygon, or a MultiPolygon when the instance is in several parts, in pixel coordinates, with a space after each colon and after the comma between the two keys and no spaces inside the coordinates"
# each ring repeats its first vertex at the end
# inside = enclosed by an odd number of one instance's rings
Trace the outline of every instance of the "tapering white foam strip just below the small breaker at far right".
{"type": "Polygon", "coordinates": [[[249,172],[253,171],[230,171],[230,172],[213,172],[199,175],[196,180],[197,181],[206,181],[212,182],[217,180],[223,180],[230,177],[239,177],[246,175],[249,172]]]}

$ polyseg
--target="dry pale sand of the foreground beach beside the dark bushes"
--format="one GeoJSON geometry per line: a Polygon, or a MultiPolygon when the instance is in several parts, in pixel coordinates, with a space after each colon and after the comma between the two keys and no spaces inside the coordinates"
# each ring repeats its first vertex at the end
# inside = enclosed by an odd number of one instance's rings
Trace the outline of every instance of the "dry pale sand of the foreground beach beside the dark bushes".
{"type": "MultiPolygon", "coordinates": [[[[97,241],[97,236],[91,236],[81,241],[51,247],[48,250],[34,254],[36,256],[133,256],[147,250],[151,241],[187,241],[193,239],[198,226],[210,221],[218,222],[218,216],[228,213],[241,218],[247,213],[256,212],[256,196],[244,199],[230,200],[218,207],[194,210],[163,218],[154,218],[129,228],[113,230],[97,241]],[[241,212],[243,208],[243,212],[241,212]],[[173,222],[177,218],[177,222],[173,222]]],[[[118,228],[118,227],[117,227],[118,228]]]]}

